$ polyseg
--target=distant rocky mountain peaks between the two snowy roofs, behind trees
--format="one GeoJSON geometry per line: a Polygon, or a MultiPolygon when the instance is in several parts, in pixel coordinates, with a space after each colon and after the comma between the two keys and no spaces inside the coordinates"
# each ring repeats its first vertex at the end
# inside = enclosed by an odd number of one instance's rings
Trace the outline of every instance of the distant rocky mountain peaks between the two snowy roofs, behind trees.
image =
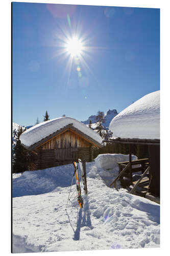
{"type": "MultiPolygon", "coordinates": [[[[113,117],[115,117],[117,115],[117,110],[108,110],[106,113],[105,113],[105,117],[104,117],[104,121],[102,123],[103,125],[103,128],[108,130],[109,129],[109,124],[111,122],[111,120],[113,119],[113,117]]],[[[96,123],[96,115],[92,115],[92,116],[89,116],[89,118],[85,121],[81,121],[82,123],[84,124],[89,124],[90,123],[90,120],[91,120],[91,123],[92,123],[92,128],[95,129],[97,125],[96,123]]]]}

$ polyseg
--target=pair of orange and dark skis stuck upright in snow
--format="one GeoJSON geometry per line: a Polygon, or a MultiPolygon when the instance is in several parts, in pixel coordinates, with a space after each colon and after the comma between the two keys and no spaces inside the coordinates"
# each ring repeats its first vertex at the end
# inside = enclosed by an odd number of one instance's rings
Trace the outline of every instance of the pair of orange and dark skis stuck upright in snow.
{"type": "MultiPolygon", "coordinates": [[[[86,181],[86,169],[85,169],[85,160],[79,159],[78,160],[79,164],[80,164],[80,169],[81,169],[81,180],[83,182],[83,189],[84,189],[84,193],[85,195],[87,195],[87,181],[86,181]]],[[[78,194],[78,203],[80,208],[83,208],[83,198],[81,195],[81,186],[80,186],[80,179],[79,179],[79,173],[78,173],[78,165],[77,162],[74,162],[74,168],[75,168],[75,175],[76,175],[76,188],[77,188],[77,194],[78,194]]]]}

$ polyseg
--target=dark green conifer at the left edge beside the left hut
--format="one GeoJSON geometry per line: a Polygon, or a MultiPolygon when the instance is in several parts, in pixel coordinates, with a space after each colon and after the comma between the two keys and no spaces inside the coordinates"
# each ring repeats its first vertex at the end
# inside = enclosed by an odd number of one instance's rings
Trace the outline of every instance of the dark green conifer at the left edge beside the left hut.
{"type": "MultiPolygon", "coordinates": [[[[26,131],[26,129],[25,129],[26,131]]],[[[29,165],[29,154],[25,148],[21,145],[20,135],[22,133],[22,127],[18,128],[16,136],[16,145],[13,154],[13,173],[21,173],[28,169],[29,165]]]]}

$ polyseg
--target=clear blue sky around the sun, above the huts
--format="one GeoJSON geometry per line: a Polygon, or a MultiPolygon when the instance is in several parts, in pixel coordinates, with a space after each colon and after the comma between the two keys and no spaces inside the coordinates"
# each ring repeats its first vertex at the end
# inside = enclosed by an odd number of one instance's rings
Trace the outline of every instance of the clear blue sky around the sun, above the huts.
{"type": "Polygon", "coordinates": [[[159,9],[13,3],[13,122],[122,111],[160,87],[159,9]],[[78,63],[63,53],[77,33],[78,63]]]}

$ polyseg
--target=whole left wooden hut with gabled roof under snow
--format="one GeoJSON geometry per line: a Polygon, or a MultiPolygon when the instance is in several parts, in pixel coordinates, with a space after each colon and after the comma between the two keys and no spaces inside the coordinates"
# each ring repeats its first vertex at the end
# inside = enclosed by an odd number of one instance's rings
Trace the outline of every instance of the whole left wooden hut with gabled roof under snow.
{"type": "Polygon", "coordinates": [[[78,158],[89,162],[93,159],[93,148],[102,146],[98,134],[69,117],[42,122],[29,130],[20,140],[32,153],[32,170],[68,164],[78,158]]]}

